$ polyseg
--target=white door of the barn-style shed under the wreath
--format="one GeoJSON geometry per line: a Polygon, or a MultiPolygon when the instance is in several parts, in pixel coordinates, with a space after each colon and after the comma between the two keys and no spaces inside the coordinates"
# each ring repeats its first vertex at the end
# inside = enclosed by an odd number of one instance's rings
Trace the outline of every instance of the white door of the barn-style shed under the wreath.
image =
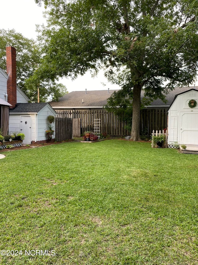
{"type": "Polygon", "coordinates": [[[179,144],[198,144],[198,113],[180,113],[179,144]]]}

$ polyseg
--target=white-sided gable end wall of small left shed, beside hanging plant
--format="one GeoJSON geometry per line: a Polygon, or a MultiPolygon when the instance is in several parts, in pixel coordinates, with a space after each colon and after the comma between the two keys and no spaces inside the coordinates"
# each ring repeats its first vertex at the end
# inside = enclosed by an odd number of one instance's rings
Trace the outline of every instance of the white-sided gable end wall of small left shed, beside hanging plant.
{"type": "MultiPolygon", "coordinates": [[[[41,109],[41,111],[38,113],[37,118],[37,131],[38,131],[38,139],[37,141],[46,140],[45,131],[48,129],[48,122],[46,120],[47,116],[54,115],[54,113],[51,111],[48,105],[46,105],[44,108],[41,109]]],[[[52,123],[54,125],[54,123],[52,123]]],[[[55,128],[54,128],[55,130],[55,128]]],[[[55,131],[54,131],[54,137],[55,137],[55,131]]]]}

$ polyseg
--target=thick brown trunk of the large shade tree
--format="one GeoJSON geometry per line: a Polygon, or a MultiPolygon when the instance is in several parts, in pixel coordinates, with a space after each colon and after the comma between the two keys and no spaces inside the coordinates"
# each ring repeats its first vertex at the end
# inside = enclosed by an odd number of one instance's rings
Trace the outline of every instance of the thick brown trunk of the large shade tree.
{"type": "Polygon", "coordinates": [[[131,140],[140,140],[140,94],[141,85],[136,84],[133,87],[133,114],[132,114],[132,127],[131,127],[131,140]]]}

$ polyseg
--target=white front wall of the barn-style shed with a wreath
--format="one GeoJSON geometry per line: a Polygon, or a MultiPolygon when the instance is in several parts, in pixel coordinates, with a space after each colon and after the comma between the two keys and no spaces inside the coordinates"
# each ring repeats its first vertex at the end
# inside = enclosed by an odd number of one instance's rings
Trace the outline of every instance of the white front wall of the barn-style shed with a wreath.
{"type": "MultiPolygon", "coordinates": [[[[198,143],[198,137],[193,136],[193,135],[197,136],[197,134],[198,134],[198,131],[196,132],[196,127],[192,126],[193,121],[191,121],[189,128],[191,129],[193,127],[192,131],[195,129],[195,133],[192,133],[189,130],[188,131],[188,137],[186,137],[185,142],[183,142],[184,135],[187,133],[186,129],[188,129],[188,124],[183,119],[183,117],[185,117],[184,116],[185,113],[189,114],[188,117],[190,117],[190,118],[193,117],[193,119],[194,119],[194,117],[197,117],[196,115],[193,115],[193,116],[191,115],[191,114],[198,113],[198,92],[197,91],[192,90],[192,91],[189,91],[187,93],[183,93],[183,94],[179,95],[176,98],[176,100],[174,101],[173,105],[170,107],[169,112],[168,112],[168,144],[171,144],[173,142],[178,142],[179,144],[198,143]],[[188,102],[191,99],[195,99],[197,102],[197,106],[194,108],[190,108],[188,106],[188,102]],[[177,120],[177,128],[175,127],[176,126],[175,122],[174,122],[175,126],[173,126],[173,120],[174,121],[177,120]],[[182,124],[183,121],[185,121],[185,124],[182,124]],[[185,130],[185,131],[183,131],[183,130],[185,130]]],[[[195,120],[194,123],[196,123],[196,122],[197,121],[195,120]]]]}

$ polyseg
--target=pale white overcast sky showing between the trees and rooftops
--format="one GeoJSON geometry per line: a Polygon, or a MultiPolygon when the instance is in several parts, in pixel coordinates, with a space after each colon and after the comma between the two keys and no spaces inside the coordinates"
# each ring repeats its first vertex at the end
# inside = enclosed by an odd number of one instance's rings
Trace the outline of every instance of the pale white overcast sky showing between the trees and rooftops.
{"type": "MultiPolygon", "coordinates": [[[[16,32],[23,34],[24,37],[36,40],[36,24],[45,24],[44,10],[44,7],[38,7],[34,0],[1,0],[0,28],[5,30],[15,29],[16,32]]],[[[76,90],[85,91],[85,89],[119,89],[117,85],[108,83],[102,71],[95,78],[92,78],[90,73],[86,73],[74,81],[66,78],[59,81],[67,87],[69,92],[76,90]]],[[[196,85],[198,85],[198,82],[196,82],[196,85]]]]}

